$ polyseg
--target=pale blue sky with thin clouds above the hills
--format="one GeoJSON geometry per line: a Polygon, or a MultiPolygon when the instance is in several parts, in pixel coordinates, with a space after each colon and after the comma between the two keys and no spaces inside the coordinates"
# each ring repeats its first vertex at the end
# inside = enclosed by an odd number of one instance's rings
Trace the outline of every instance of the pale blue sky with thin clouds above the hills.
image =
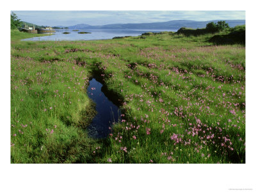
{"type": "Polygon", "coordinates": [[[245,11],[19,11],[20,20],[39,26],[74,26],[90,24],[126,24],[164,22],[169,20],[229,20],[244,19],[245,11]]]}

